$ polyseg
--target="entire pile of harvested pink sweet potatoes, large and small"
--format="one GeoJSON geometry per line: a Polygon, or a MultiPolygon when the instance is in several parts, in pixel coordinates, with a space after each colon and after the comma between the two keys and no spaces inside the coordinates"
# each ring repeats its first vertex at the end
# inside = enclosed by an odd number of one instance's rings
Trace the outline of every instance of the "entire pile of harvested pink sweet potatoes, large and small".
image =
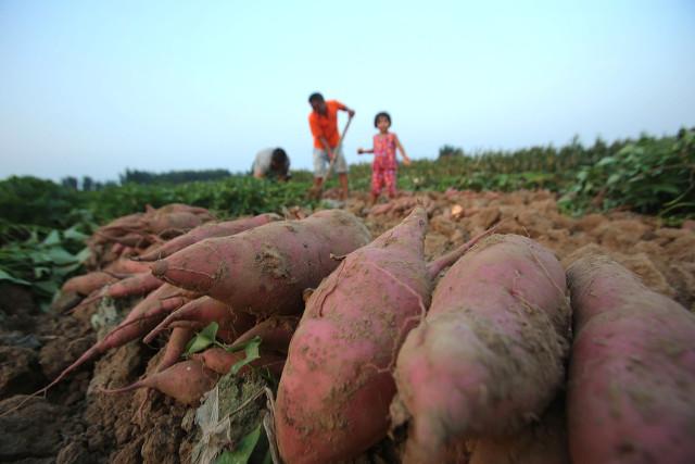
{"type": "Polygon", "coordinates": [[[374,241],[337,210],[197,226],[205,213],[188,214],[102,228],[128,264],[65,289],[147,297],[54,383],[127,341],[167,339],[156,374],[114,391],[195,405],[244,355],[181,358],[214,322],[228,347],[260,337],[245,368],[279,377],[288,464],[351,460],[390,434],[408,463],[695,462],[695,316],[605,256],[565,269],[533,240],[488,233],[427,263],[421,206],[374,241]],[[148,224],[148,248],[131,246],[134,224],[148,224]]]}

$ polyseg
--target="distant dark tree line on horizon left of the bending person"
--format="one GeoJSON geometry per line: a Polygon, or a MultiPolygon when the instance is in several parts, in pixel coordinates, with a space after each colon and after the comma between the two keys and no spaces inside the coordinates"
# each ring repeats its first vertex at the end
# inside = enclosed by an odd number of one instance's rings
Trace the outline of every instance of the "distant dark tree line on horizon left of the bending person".
{"type": "Polygon", "coordinates": [[[157,184],[186,184],[190,181],[220,180],[231,176],[227,170],[204,170],[204,171],[169,171],[166,173],[150,173],[148,171],[126,170],[124,174],[118,175],[118,183],[109,180],[100,183],[89,176],[81,179],[67,176],[61,179],[61,185],[73,190],[97,191],[104,187],[140,184],[140,185],[157,185],[157,184]]]}

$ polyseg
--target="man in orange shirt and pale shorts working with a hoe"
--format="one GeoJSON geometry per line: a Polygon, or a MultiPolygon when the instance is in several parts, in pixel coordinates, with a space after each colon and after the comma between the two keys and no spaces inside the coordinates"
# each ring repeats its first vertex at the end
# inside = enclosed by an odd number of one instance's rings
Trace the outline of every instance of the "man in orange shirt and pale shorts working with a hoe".
{"type": "Polygon", "coordinates": [[[318,92],[309,96],[308,103],[312,105],[308,125],[314,136],[314,190],[320,191],[328,164],[336,158],[333,166],[340,180],[341,198],[344,200],[348,198],[348,163],[342,147],[338,147],[338,111],[348,112],[349,117],[353,117],[355,111],[338,100],[326,101],[318,92]]]}

